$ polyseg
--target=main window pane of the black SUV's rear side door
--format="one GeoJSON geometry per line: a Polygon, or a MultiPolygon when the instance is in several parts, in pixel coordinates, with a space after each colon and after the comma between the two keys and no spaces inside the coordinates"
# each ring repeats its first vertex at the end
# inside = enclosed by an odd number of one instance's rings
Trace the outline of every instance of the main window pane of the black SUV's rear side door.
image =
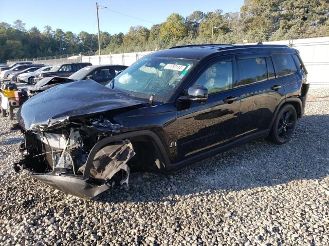
{"type": "Polygon", "coordinates": [[[240,72],[240,85],[249,85],[267,80],[265,58],[237,60],[240,72]]]}

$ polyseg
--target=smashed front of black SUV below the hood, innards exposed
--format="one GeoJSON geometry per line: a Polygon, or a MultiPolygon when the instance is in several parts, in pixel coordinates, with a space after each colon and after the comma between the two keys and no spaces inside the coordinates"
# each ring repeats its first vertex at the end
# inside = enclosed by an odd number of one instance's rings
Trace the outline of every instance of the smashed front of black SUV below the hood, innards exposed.
{"type": "Polygon", "coordinates": [[[116,185],[128,186],[127,161],[135,154],[131,142],[97,145],[118,131],[119,125],[102,117],[62,120],[61,124],[54,129],[23,130],[23,158],[14,163],[15,171],[26,170],[53,188],[79,197],[91,198],[116,185]]]}

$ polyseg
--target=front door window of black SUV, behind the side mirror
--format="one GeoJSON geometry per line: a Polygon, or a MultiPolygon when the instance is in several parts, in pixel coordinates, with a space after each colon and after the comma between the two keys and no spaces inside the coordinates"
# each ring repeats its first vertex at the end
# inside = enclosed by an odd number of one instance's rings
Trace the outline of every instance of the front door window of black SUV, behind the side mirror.
{"type": "Polygon", "coordinates": [[[209,94],[233,88],[232,61],[211,65],[194,83],[208,89],[209,94]]]}

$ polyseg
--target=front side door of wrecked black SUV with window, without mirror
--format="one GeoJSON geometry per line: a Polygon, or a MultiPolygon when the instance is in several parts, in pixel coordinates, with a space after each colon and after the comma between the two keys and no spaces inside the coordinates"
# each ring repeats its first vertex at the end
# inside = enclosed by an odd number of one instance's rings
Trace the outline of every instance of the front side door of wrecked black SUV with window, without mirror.
{"type": "Polygon", "coordinates": [[[235,138],[240,112],[233,56],[210,60],[189,85],[208,89],[205,103],[178,103],[177,147],[183,160],[235,138]]]}

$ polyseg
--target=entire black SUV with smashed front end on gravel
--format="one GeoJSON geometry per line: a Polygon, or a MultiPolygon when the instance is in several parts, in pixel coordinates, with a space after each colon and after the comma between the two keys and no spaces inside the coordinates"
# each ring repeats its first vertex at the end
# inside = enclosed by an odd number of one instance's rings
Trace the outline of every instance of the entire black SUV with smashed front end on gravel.
{"type": "Polygon", "coordinates": [[[17,113],[25,155],[14,168],[93,197],[127,186],[130,170],[175,170],[256,138],[284,144],[304,112],[306,74],[287,46],[154,52],[105,87],[75,81],[27,100],[17,113]]]}

